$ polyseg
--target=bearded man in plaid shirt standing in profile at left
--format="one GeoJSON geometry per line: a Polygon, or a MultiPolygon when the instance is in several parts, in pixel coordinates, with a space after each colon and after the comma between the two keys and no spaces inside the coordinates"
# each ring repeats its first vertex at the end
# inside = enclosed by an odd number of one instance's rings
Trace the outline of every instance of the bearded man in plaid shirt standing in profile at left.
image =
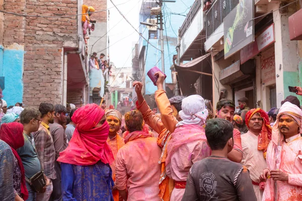
{"type": "Polygon", "coordinates": [[[52,193],[52,180],[56,178],[54,168],[55,150],[53,139],[49,131],[49,124],[54,123],[54,107],[52,104],[40,104],[41,124],[39,130],[34,133],[36,150],[41,164],[41,169],[46,175],[46,192],[37,193],[37,200],[48,201],[52,193]]]}

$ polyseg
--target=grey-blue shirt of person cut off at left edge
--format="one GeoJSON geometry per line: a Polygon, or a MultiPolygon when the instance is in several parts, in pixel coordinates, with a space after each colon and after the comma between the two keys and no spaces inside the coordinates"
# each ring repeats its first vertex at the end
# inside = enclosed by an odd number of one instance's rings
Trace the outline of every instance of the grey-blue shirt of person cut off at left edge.
{"type": "Polygon", "coordinates": [[[11,147],[0,140],[0,198],[2,201],[15,200],[14,160],[11,147]]]}

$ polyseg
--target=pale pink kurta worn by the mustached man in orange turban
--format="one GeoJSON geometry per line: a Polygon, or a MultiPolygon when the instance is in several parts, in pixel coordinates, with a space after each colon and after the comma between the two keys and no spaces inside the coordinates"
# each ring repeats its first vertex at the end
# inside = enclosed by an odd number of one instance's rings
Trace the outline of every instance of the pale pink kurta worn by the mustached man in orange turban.
{"type": "MultiPolygon", "coordinates": [[[[260,175],[263,169],[267,168],[266,160],[263,156],[263,151],[258,150],[258,136],[250,131],[241,136],[243,156],[241,163],[245,165],[249,171],[252,181],[260,183],[260,175]]],[[[258,201],[262,200],[263,190],[259,185],[253,185],[258,201]]]]}

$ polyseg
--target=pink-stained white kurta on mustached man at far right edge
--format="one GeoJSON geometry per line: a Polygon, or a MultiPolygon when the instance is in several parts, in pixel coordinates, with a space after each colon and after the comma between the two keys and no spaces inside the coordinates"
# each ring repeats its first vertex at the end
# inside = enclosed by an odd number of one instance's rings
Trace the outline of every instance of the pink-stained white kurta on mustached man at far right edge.
{"type": "Polygon", "coordinates": [[[281,146],[272,142],[267,149],[267,164],[270,170],[280,169],[288,173],[288,182],[267,179],[262,200],[298,201],[302,200],[302,137],[297,134],[281,146]],[[280,152],[278,151],[280,150],[280,152]],[[281,161],[281,162],[278,162],[281,161]],[[280,166],[278,168],[278,166],[280,166]],[[276,185],[276,186],[274,186],[276,185]],[[275,188],[276,187],[276,188],[275,188]]]}

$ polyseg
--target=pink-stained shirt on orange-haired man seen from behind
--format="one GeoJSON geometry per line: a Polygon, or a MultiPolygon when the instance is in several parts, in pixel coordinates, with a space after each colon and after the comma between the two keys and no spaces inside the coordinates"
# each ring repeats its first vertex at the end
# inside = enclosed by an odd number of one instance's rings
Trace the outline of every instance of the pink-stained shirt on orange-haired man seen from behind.
{"type": "Polygon", "coordinates": [[[116,187],[128,190],[128,201],[159,201],[162,150],[156,138],[127,142],[116,157],[116,187]]]}

